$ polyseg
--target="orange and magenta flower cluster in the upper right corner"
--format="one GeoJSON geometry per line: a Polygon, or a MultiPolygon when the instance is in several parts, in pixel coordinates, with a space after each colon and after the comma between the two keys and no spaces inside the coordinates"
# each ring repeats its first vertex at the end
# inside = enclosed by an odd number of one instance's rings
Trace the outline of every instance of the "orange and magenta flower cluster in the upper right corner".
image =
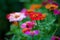
{"type": "Polygon", "coordinates": [[[42,4],[45,5],[46,9],[52,10],[55,15],[60,15],[60,10],[56,2],[43,2],[42,4]]]}

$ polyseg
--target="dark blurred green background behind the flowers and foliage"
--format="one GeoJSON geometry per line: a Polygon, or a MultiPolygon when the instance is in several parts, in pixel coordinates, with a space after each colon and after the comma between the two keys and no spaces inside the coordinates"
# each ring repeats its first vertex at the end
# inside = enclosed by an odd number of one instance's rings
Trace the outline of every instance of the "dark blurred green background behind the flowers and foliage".
{"type": "MultiPolygon", "coordinates": [[[[60,6],[60,0],[55,1],[60,6]]],[[[38,1],[35,0],[35,2],[37,3],[38,1]]],[[[3,38],[5,33],[10,29],[11,23],[6,19],[6,14],[11,12],[19,12],[25,7],[25,4],[28,3],[32,3],[32,0],[0,0],[0,38],[3,38]]],[[[60,25],[60,15],[58,15],[56,22],[60,25]]],[[[56,31],[55,35],[60,36],[60,27],[56,31]]]]}

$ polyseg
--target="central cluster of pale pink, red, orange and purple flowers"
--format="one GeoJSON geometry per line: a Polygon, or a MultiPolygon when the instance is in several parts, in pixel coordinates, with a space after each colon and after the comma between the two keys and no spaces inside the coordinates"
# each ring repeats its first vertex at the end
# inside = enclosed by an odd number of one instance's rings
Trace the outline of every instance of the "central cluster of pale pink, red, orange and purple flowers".
{"type": "MultiPolygon", "coordinates": [[[[32,9],[35,10],[37,7],[40,8],[39,5],[32,5],[32,9]]],[[[46,14],[42,14],[40,12],[34,12],[33,10],[23,9],[21,12],[10,13],[7,15],[7,19],[10,22],[13,22],[15,25],[18,25],[18,21],[22,21],[24,18],[29,17],[31,20],[23,23],[20,27],[22,28],[22,32],[27,35],[38,35],[39,30],[31,31],[31,29],[36,25],[35,21],[44,20],[46,14]]]]}

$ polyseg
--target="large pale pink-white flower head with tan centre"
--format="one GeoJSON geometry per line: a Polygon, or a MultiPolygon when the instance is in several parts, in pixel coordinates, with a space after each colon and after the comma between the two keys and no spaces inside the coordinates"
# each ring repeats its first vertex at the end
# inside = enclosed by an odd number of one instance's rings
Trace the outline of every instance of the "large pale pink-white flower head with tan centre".
{"type": "Polygon", "coordinates": [[[20,13],[20,12],[11,13],[7,16],[7,19],[9,19],[10,22],[21,21],[24,18],[26,18],[26,16],[24,15],[24,13],[20,13]]]}

